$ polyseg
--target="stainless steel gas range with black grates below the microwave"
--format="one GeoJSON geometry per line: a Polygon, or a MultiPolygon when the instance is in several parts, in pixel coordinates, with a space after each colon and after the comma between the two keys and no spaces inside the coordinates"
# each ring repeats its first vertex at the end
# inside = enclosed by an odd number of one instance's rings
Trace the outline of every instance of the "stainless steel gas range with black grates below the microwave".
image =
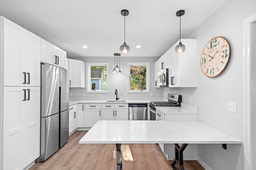
{"type": "Polygon", "coordinates": [[[156,107],[180,107],[181,96],[178,94],[168,94],[168,102],[150,102],[150,120],[156,120],[156,107]]]}

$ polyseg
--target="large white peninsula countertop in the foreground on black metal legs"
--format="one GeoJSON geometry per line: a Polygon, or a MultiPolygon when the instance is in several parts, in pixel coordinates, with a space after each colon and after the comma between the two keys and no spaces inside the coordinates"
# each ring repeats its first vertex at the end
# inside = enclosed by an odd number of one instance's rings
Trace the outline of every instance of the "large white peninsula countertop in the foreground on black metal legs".
{"type": "Polygon", "coordinates": [[[241,144],[199,121],[98,121],[79,143],[241,144]]]}

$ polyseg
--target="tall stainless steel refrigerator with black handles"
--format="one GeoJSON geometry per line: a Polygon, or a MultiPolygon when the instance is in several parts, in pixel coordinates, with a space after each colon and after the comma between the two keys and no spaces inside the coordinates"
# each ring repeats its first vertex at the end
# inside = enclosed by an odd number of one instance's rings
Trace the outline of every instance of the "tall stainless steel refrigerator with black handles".
{"type": "Polygon", "coordinates": [[[41,63],[41,139],[43,162],[68,141],[68,71],[41,63]]]}

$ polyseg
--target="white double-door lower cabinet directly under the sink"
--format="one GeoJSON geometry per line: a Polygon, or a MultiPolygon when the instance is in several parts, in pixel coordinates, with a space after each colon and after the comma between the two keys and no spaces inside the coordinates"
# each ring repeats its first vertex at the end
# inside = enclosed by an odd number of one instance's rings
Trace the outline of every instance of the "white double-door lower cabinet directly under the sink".
{"type": "Polygon", "coordinates": [[[102,104],[102,120],[128,120],[128,104],[102,104]]]}

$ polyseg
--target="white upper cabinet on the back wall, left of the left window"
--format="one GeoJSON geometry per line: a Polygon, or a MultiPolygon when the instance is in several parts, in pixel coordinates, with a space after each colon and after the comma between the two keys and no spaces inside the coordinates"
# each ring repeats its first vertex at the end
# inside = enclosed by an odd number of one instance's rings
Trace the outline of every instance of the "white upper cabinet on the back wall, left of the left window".
{"type": "Polygon", "coordinates": [[[85,63],[68,59],[69,87],[85,87],[85,63]]]}

